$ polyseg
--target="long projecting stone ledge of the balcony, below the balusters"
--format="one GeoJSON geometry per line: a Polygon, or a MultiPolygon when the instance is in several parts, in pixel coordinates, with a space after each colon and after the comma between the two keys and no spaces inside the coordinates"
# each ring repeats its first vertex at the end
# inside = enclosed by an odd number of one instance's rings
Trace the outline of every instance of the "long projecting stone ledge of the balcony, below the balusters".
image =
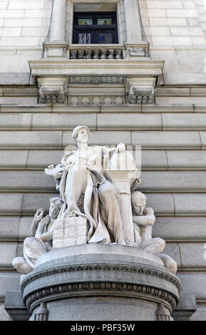
{"type": "Polygon", "coordinates": [[[29,61],[32,76],[160,76],[163,74],[164,61],[150,58],[139,61],[120,60],[83,60],[66,61],[29,61]]]}

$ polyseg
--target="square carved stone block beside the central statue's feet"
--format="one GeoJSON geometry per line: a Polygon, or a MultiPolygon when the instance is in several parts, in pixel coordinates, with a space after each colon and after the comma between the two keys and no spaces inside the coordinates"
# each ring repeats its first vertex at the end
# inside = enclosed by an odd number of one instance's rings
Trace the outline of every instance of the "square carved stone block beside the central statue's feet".
{"type": "Polygon", "coordinates": [[[87,243],[88,223],[86,217],[67,217],[55,220],[53,249],[87,243]]]}

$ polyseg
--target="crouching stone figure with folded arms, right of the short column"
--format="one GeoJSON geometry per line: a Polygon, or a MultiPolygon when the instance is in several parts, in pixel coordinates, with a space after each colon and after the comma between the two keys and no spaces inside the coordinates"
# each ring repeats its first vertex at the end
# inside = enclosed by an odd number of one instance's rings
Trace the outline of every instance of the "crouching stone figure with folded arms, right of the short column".
{"type": "Polygon", "coordinates": [[[177,272],[177,263],[167,254],[162,254],[165,241],[160,237],[153,238],[153,225],[155,223],[154,210],[146,206],[146,197],[143,193],[135,191],[131,196],[133,207],[133,227],[135,244],[137,247],[158,255],[164,266],[172,273],[177,272]]]}

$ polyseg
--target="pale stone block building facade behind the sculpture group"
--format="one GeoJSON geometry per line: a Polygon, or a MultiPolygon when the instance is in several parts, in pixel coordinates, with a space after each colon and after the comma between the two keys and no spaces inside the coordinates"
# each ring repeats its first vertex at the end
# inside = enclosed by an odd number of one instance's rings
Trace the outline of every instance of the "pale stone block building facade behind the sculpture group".
{"type": "Polygon", "coordinates": [[[202,0],[0,1],[0,320],[19,285],[12,259],[56,194],[43,170],[80,123],[91,144],[141,145],[140,191],[178,265],[179,309],[206,319],[205,31],[202,0]],[[79,44],[84,14],[115,21],[79,44]]]}

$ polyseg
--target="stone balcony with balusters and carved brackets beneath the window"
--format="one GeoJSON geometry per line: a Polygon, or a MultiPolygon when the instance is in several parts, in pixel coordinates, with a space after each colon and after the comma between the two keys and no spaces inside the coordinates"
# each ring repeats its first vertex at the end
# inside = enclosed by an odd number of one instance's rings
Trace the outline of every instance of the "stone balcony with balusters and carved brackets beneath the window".
{"type": "Polygon", "coordinates": [[[164,63],[148,56],[144,41],[135,45],[53,41],[44,43],[43,58],[29,66],[38,83],[39,103],[102,105],[155,103],[155,85],[163,76],[164,63]]]}

